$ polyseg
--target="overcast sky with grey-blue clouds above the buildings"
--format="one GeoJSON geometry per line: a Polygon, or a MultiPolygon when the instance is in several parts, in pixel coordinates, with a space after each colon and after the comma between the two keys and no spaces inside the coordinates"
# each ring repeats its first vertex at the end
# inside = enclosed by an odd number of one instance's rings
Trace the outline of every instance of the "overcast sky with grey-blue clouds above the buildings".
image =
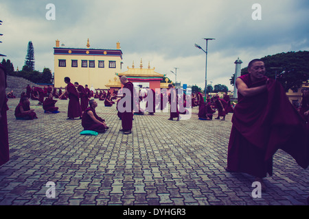
{"type": "Polygon", "coordinates": [[[254,58],[288,51],[309,50],[308,0],[0,0],[0,53],[7,55],[16,70],[34,44],[35,68],[54,71],[55,40],[65,47],[116,49],[120,42],[123,68],[133,61],[155,67],[172,81],[205,87],[207,80],[233,89],[229,79],[234,62],[242,68],[254,58]],[[55,5],[56,20],[47,20],[48,3],[55,5]],[[261,6],[262,20],[253,20],[253,4],[261,6]]]}

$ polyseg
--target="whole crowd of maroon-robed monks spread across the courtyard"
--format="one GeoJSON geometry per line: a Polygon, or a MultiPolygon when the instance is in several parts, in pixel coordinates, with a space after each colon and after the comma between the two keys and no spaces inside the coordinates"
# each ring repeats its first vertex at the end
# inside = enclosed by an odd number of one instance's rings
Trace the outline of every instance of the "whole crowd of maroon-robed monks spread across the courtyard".
{"type": "MultiPolygon", "coordinates": [[[[6,84],[3,81],[6,81],[6,75],[4,68],[0,67],[0,88],[5,88],[6,84]]],[[[198,106],[198,117],[205,120],[212,119],[215,108],[218,109],[216,119],[222,117],[222,120],[225,120],[225,115],[233,112],[225,170],[253,175],[256,177],[256,181],[260,181],[262,188],[265,189],[263,178],[266,177],[267,173],[272,175],[273,155],[277,149],[282,149],[290,154],[302,168],[308,167],[309,89],[302,90],[301,105],[299,109],[295,109],[288,101],[281,84],[265,76],[266,71],[262,60],[252,60],[248,65],[248,72],[247,75],[242,75],[236,79],[238,103],[235,107],[229,101],[227,94],[223,99],[214,96],[204,101],[200,92],[192,95],[191,107],[198,106]]],[[[100,96],[95,97],[98,97],[99,100],[118,98],[117,111],[119,119],[122,120],[122,129],[119,131],[130,134],[132,133],[134,111],[138,114],[139,110],[134,109],[137,103],[133,98],[135,92],[133,83],[128,81],[125,76],[122,76],[120,81],[123,84],[121,95],[117,96],[116,93],[104,94],[102,92],[100,96]]],[[[95,112],[95,108],[98,106],[95,99],[89,101],[89,89],[87,86],[84,88],[77,82],[73,84],[69,77],[65,77],[65,83],[67,83],[65,92],[60,94],[58,98],[61,99],[62,96],[69,98],[68,119],[79,117],[82,119],[84,130],[104,133],[108,126],[105,120],[95,112]]],[[[32,88],[32,92],[38,96],[38,101],[43,104],[42,95],[44,94],[42,94],[42,90],[42,88],[32,88]]],[[[153,100],[155,100],[155,96],[160,96],[159,108],[163,110],[166,107],[166,103],[162,101],[165,95],[171,105],[169,120],[173,120],[173,118],[179,120],[179,114],[185,113],[183,108],[178,108],[179,101],[183,101],[182,105],[187,105],[188,102],[186,96],[183,99],[177,98],[172,85],[169,86],[169,90],[168,94],[161,93],[161,96],[156,95],[152,90],[153,100]]],[[[5,98],[5,93],[4,95],[2,93],[0,96],[0,164],[8,161],[8,127],[6,120],[6,111],[8,110],[6,101],[8,99],[5,98]]],[[[49,92],[47,97],[49,107],[52,110],[58,110],[54,107],[55,101],[52,101],[52,97],[53,94],[49,92]]],[[[141,100],[139,99],[139,101],[141,100]]],[[[19,106],[16,107],[16,118],[20,118],[19,116],[23,114],[27,114],[29,119],[37,118],[34,110],[30,110],[29,105],[29,97],[22,96],[19,106]]],[[[155,114],[155,106],[148,107],[148,112],[149,114],[155,114]]]]}

